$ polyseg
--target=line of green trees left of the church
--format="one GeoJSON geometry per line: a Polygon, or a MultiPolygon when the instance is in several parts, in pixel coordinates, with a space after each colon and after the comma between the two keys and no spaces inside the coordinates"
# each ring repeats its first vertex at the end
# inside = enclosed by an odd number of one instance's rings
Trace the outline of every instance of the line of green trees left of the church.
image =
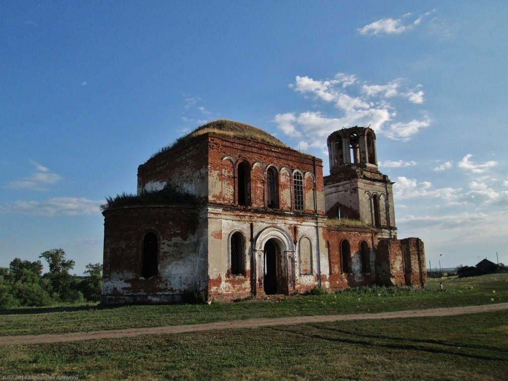
{"type": "Polygon", "coordinates": [[[43,264],[15,258],[9,267],[0,267],[0,308],[41,307],[59,303],[78,304],[101,299],[102,265],[86,265],[85,276],[71,275],[75,262],[66,259],[61,248],[41,253],[43,264]]]}

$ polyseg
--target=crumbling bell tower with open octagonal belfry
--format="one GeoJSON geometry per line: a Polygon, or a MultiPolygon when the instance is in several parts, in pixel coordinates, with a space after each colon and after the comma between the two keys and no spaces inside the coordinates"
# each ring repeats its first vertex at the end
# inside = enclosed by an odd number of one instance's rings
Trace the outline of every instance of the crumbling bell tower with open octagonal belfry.
{"type": "Polygon", "coordinates": [[[376,136],[368,127],[335,131],[328,137],[330,176],[325,181],[329,218],[358,219],[397,238],[392,182],[377,169],[376,136]]]}

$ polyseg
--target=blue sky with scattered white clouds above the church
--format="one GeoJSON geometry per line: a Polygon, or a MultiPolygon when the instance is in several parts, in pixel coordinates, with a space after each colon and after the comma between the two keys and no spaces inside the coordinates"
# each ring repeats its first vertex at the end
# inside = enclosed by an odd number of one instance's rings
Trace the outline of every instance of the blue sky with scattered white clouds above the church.
{"type": "Polygon", "coordinates": [[[323,159],[370,125],[399,238],[427,266],[508,263],[508,3],[0,5],[0,267],[61,247],[102,262],[105,197],[206,121],[323,159]]]}

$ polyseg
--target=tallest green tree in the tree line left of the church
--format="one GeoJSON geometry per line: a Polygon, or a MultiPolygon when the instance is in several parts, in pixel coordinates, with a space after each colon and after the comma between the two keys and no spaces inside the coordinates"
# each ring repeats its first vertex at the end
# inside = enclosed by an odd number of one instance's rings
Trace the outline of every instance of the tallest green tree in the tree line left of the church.
{"type": "Polygon", "coordinates": [[[67,260],[66,253],[61,248],[44,251],[39,258],[44,258],[48,263],[49,272],[44,277],[49,280],[53,298],[62,302],[76,300],[77,296],[70,287],[72,276],[69,273],[75,262],[67,260]]]}

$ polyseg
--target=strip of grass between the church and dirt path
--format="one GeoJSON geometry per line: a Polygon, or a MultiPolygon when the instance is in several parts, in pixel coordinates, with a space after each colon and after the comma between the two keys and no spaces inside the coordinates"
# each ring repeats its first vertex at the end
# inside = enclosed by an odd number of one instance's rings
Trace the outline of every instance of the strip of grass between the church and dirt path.
{"type": "Polygon", "coordinates": [[[253,317],[281,317],[455,307],[508,301],[508,274],[429,279],[417,289],[351,289],[319,296],[292,296],[211,305],[98,306],[0,310],[0,335],[99,331],[199,324],[253,317]]]}

